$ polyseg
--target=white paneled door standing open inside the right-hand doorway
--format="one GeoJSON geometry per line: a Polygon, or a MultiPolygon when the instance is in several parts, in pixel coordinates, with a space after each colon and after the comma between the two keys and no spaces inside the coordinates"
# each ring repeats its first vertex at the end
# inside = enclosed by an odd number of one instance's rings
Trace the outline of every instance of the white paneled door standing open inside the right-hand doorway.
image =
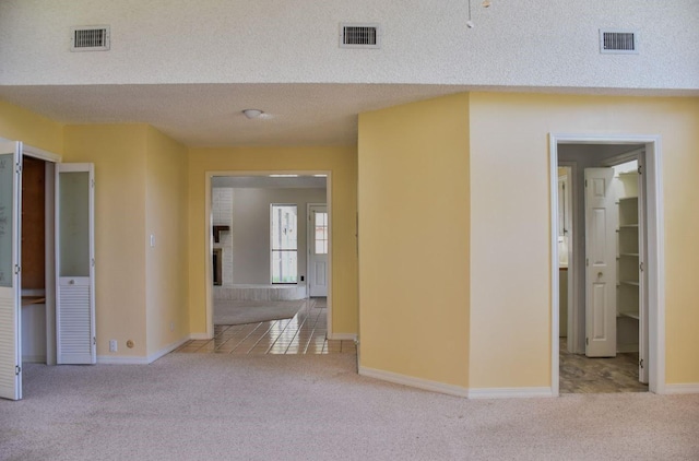
{"type": "Polygon", "coordinates": [[[617,210],[612,168],[585,168],[585,355],[616,356],[617,210]]]}

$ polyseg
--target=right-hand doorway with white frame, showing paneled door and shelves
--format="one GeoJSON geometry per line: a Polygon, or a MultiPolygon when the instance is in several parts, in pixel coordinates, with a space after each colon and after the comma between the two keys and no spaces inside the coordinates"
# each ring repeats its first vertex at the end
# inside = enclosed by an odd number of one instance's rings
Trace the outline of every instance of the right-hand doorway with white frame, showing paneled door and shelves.
{"type": "MultiPolygon", "coordinates": [[[[636,386],[619,385],[617,390],[662,392],[664,306],[660,275],[663,249],[659,140],[552,135],[550,150],[552,196],[555,196],[552,197],[554,393],[570,391],[571,376],[594,381],[599,373],[608,378],[611,374],[600,367],[605,362],[614,373],[620,366],[623,378],[636,375],[631,379],[636,386]],[[608,179],[593,176],[595,173],[608,179]],[[613,196],[606,205],[608,214],[599,204],[592,211],[585,205],[585,194],[593,188],[613,196]],[[594,216],[602,218],[595,224],[594,216]],[[606,240],[596,245],[593,237],[601,238],[603,229],[606,240]],[[607,274],[612,275],[611,281],[605,279],[607,274]],[[602,340],[612,348],[600,348],[602,340]],[[593,356],[607,358],[584,358],[593,356]],[[594,364],[589,374],[585,360],[594,364]]],[[[612,374],[600,391],[612,391],[608,386],[615,386],[614,378],[612,374]]],[[[594,391],[594,385],[585,382],[579,389],[594,391]]]]}

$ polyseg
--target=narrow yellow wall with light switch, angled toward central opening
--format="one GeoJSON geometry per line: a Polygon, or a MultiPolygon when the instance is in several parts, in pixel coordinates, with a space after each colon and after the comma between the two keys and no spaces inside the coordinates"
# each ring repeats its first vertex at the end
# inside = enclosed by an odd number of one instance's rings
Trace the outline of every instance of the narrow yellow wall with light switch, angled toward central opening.
{"type": "Polygon", "coordinates": [[[152,355],[189,336],[187,147],[151,127],[146,137],[146,234],[142,245],[146,255],[147,352],[152,355]]]}

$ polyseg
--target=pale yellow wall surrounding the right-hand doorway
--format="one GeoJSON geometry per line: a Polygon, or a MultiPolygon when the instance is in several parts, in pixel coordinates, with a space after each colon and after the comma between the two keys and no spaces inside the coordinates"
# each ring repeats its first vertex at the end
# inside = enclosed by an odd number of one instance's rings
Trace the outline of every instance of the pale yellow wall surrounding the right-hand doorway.
{"type": "Polygon", "coordinates": [[[662,137],[666,380],[699,382],[697,127],[697,98],[471,95],[472,388],[550,385],[550,132],[662,137]]]}

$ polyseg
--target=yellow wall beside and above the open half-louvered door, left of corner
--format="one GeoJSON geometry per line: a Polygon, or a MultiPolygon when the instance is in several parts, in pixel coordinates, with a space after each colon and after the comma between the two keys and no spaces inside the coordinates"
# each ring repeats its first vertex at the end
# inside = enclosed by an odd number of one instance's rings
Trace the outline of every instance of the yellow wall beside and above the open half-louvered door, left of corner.
{"type": "Polygon", "coordinates": [[[66,127],[63,162],[95,164],[97,355],[146,355],[145,125],[66,127]],[[126,342],[132,340],[133,348],[126,342]]]}

